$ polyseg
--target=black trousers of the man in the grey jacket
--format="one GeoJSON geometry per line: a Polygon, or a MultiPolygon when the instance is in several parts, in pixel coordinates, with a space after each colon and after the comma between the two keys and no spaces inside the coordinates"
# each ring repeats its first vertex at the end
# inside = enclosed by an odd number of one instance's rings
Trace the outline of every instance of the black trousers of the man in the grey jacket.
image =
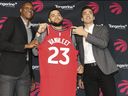
{"type": "Polygon", "coordinates": [[[98,66],[84,66],[83,81],[87,96],[99,96],[99,88],[103,96],[116,96],[114,75],[105,75],[98,66]]]}

